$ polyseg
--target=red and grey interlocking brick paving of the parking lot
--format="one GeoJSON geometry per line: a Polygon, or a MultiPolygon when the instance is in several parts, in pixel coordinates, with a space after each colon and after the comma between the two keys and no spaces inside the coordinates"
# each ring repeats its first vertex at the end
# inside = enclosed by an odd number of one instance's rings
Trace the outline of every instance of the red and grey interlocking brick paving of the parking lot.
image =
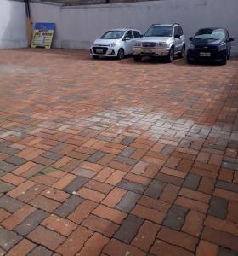
{"type": "Polygon", "coordinates": [[[2,50],[0,92],[0,255],[237,255],[237,59],[2,50]]]}

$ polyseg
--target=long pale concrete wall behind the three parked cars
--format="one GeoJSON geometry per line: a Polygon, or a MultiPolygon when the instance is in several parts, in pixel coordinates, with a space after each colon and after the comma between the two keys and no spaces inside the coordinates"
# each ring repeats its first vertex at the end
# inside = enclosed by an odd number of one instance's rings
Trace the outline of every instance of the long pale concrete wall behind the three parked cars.
{"type": "Polygon", "coordinates": [[[233,55],[238,55],[237,11],[238,0],[161,0],[80,6],[31,2],[33,22],[54,22],[53,46],[66,49],[88,49],[95,38],[111,28],[133,27],[145,32],[151,23],[179,22],[187,38],[199,27],[227,27],[235,38],[233,55]]]}

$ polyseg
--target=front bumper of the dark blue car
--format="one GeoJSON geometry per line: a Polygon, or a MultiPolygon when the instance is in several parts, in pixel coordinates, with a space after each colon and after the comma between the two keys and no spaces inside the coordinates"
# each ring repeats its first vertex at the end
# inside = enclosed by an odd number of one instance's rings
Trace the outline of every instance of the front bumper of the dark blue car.
{"type": "Polygon", "coordinates": [[[207,50],[199,50],[199,49],[188,49],[187,58],[190,61],[224,61],[227,56],[227,50],[218,50],[218,49],[207,49],[207,50]],[[201,56],[201,54],[207,53],[207,56],[201,56]],[[210,54],[210,55],[209,55],[210,54]]]}

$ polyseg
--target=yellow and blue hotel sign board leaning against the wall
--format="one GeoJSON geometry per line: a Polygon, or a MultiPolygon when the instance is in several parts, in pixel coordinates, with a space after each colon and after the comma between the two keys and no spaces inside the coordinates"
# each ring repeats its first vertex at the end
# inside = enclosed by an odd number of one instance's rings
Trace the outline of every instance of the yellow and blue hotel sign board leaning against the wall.
{"type": "Polygon", "coordinates": [[[50,49],[53,36],[54,23],[36,23],[31,47],[50,49]]]}

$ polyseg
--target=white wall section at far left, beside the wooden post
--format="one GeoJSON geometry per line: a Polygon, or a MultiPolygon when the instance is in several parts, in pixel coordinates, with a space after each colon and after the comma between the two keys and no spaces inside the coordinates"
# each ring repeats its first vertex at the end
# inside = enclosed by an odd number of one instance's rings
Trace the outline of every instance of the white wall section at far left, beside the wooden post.
{"type": "Polygon", "coordinates": [[[0,49],[27,44],[25,3],[0,0],[0,49]]]}

